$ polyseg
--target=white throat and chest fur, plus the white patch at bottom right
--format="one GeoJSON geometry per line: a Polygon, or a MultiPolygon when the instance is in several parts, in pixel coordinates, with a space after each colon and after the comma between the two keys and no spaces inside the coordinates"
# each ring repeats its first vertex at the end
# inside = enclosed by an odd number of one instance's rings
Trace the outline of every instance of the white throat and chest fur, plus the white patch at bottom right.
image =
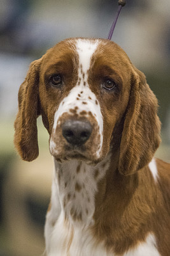
{"type": "MultiPolygon", "coordinates": [[[[118,256],[106,248],[104,240],[97,241],[92,232],[97,183],[106,175],[109,165],[108,159],[93,168],[80,161],[55,163],[52,209],[46,218],[48,256],[118,256]]],[[[152,234],[122,256],[143,255],[160,256],[152,234]]]]}

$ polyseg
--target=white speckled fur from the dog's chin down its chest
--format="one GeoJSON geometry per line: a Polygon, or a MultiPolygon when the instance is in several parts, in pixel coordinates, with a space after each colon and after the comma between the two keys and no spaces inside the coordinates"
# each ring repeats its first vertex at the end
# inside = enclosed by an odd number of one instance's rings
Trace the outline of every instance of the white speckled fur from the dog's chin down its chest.
{"type": "Polygon", "coordinates": [[[55,161],[51,198],[52,208],[46,215],[45,225],[46,253],[49,256],[89,256],[93,253],[98,256],[107,255],[100,254],[102,252],[101,246],[96,247],[96,241],[92,239],[90,227],[94,224],[93,215],[97,182],[106,174],[110,165],[110,158],[109,156],[106,157],[96,166],[89,166],[85,162],[81,162],[80,173],[76,173],[78,164],[80,164],[80,161],[77,160],[62,164],[55,161]],[[101,167],[103,164],[105,164],[104,168],[101,167]],[[97,178],[95,177],[96,170],[99,171],[97,178]],[[59,172],[62,172],[60,181],[57,178],[59,172]],[[66,182],[67,186],[65,186],[66,182]],[[81,184],[81,191],[75,191],[76,182],[81,184]],[[71,195],[71,200],[67,202],[64,208],[64,198],[67,197],[68,193],[71,195]],[[76,193],[75,198],[73,198],[74,193],[76,193]],[[81,221],[73,220],[70,214],[71,208],[78,214],[81,212],[81,221]],[[88,210],[88,214],[86,210],[88,210]]]}

